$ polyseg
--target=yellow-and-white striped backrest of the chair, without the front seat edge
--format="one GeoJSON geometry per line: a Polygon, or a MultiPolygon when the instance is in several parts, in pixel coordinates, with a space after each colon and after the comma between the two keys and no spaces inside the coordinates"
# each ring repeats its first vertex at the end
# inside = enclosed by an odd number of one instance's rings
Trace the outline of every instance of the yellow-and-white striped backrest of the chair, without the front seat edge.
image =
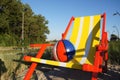
{"type": "Polygon", "coordinates": [[[100,18],[100,15],[75,18],[70,41],[76,48],[74,59],[81,65],[93,64],[95,45],[99,44],[99,40],[93,41],[95,36],[100,38],[100,18]]]}

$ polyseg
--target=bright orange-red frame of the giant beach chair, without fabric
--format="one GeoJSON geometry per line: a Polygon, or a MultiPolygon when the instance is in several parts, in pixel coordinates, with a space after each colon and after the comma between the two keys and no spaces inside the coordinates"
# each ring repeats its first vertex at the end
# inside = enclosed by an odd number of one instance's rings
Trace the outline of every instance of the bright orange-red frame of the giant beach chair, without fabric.
{"type": "MultiPolygon", "coordinates": [[[[96,45],[96,53],[95,53],[95,60],[94,65],[84,64],[82,66],[83,71],[90,71],[92,73],[91,80],[97,80],[97,75],[99,72],[104,72],[107,70],[107,60],[108,60],[108,40],[107,40],[107,32],[105,32],[106,28],[106,13],[101,15],[101,18],[103,18],[103,25],[102,25],[102,38],[99,45],[96,45]],[[102,65],[103,62],[105,63],[104,66],[102,65]],[[104,70],[104,71],[103,71],[104,70]]],[[[62,39],[66,38],[66,35],[68,34],[68,31],[72,25],[72,22],[74,21],[74,17],[71,17],[69,24],[65,30],[65,32],[62,34],[62,39]]],[[[53,46],[53,44],[31,44],[31,47],[41,47],[38,54],[36,55],[36,58],[41,58],[43,55],[43,52],[45,51],[47,46],[53,46]]],[[[24,56],[24,60],[29,59],[27,56],[24,56]]],[[[35,68],[37,66],[37,63],[32,63],[24,80],[30,80],[30,77],[32,73],[34,72],[35,68]]]]}

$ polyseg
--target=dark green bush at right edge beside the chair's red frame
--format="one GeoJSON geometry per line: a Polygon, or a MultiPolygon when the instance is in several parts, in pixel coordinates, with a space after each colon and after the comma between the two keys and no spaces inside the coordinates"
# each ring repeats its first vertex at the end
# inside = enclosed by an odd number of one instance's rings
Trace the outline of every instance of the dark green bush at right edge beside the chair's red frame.
{"type": "Polygon", "coordinates": [[[108,53],[111,64],[120,65],[120,41],[110,41],[108,53]]]}

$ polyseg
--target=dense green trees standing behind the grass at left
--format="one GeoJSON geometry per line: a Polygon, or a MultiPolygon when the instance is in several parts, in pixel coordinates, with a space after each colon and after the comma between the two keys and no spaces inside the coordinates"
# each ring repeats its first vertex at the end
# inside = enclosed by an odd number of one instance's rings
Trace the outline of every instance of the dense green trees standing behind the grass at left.
{"type": "Polygon", "coordinates": [[[0,0],[0,46],[42,43],[49,34],[47,24],[45,17],[34,14],[28,4],[20,0],[0,0]],[[22,23],[24,40],[21,38],[22,23]]]}

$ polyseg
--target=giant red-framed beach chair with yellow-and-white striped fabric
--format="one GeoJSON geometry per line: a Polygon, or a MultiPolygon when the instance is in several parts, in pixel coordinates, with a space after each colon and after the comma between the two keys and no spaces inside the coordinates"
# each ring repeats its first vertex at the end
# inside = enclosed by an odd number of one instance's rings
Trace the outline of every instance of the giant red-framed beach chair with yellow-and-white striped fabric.
{"type": "Polygon", "coordinates": [[[24,56],[25,61],[32,62],[24,80],[30,79],[37,63],[92,72],[91,80],[97,80],[98,73],[107,70],[108,40],[105,26],[106,13],[72,17],[65,32],[62,34],[62,39],[66,39],[70,28],[72,28],[69,41],[74,45],[76,52],[73,59],[68,62],[41,59],[45,49],[48,46],[54,46],[54,44],[31,44],[31,47],[40,47],[40,50],[36,57],[24,56]]]}

